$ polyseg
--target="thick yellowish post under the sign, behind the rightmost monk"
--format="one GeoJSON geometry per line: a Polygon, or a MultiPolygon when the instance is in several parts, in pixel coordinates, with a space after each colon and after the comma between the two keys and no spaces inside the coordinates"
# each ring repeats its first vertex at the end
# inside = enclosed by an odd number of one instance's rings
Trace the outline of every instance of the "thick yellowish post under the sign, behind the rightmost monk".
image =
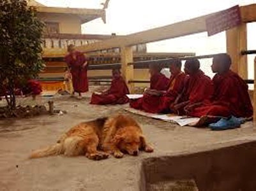
{"type": "Polygon", "coordinates": [[[246,23],[226,31],[227,53],[232,59],[232,71],[243,79],[248,79],[247,55],[241,55],[242,50],[247,50],[246,23]]]}

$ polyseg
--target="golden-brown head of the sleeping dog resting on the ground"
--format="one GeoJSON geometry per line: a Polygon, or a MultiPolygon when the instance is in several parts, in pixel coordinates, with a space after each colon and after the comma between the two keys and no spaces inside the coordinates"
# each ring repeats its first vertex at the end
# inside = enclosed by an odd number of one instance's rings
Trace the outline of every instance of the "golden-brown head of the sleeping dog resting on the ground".
{"type": "Polygon", "coordinates": [[[142,134],[134,131],[133,128],[127,128],[116,134],[112,141],[122,152],[137,156],[142,138],[144,138],[142,134]]]}

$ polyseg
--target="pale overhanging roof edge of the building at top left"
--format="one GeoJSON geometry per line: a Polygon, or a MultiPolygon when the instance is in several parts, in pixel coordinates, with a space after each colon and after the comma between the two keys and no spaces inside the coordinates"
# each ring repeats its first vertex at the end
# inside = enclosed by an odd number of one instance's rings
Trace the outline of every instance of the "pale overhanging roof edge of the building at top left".
{"type": "Polygon", "coordinates": [[[96,18],[102,18],[103,22],[105,22],[105,10],[101,9],[36,6],[36,10],[39,13],[59,13],[77,15],[80,18],[81,24],[84,24],[96,18]]]}

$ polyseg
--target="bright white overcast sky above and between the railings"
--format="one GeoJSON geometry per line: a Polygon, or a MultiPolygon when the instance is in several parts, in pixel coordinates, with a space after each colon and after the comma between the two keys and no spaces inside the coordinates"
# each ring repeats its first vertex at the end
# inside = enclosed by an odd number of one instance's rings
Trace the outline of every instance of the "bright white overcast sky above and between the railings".
{"type": "MultiPolygon", "coordinates": [[[[70,8],[102,8],[105,0],[38,0],[47,6],[70,8]]],[[[82,25],[84,34],[131,34],[169,25],[193,17],[225,10],[234,5],[255,3],[255,0],[110,0],[107,24],[102,19],[82,25]]],[[[248,24],[248,50],[256,50],[256,22],[248,24]]],[[[148,52],[194,52],[196,55],[226,52],[225,32],[207,37],[206,32],[147,44],[148,52]]],[[[209,76],[211,59],[200,60],[209,76]]],[[[248,56],[249,78],[253,78],[253,56],[248,56]]]]}

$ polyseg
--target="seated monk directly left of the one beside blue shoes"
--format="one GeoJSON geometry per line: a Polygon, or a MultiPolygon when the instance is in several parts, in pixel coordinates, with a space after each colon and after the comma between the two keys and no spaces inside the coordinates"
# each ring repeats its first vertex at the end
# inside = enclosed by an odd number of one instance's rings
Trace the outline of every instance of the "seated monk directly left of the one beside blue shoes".
{"type": "Polygon", "coordinates": [[[200,62],[197,59],[186,60],[184,71],[185,78],[183,92],[177,96],[170,110],[177,115],[185,115],[186,111],[196,108],[213,95],[213,83],[211,79],[200,70],[200,62]]]}

